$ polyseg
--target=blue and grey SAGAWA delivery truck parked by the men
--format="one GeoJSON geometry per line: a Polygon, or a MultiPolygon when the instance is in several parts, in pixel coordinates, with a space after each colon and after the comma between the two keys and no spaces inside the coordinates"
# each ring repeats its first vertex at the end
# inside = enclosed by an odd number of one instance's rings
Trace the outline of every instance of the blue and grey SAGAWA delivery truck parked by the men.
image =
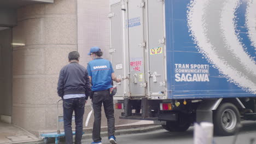
{"type": "Polygon", "coordinates": [[[110,1],[110,58],[123,119],[168,131],[256,120],[255,0],[110,1]]]}

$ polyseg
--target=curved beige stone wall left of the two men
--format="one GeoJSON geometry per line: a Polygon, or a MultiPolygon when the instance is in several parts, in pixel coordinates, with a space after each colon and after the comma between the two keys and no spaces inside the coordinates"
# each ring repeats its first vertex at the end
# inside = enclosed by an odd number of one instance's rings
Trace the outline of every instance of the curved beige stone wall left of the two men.
{"type": "Polygon", "coordinates": [[[18,9],[13,28],[13,124],[33,134],[56,129],[56,87],[68,52],[77,50],[76,0],[18,9]]]}

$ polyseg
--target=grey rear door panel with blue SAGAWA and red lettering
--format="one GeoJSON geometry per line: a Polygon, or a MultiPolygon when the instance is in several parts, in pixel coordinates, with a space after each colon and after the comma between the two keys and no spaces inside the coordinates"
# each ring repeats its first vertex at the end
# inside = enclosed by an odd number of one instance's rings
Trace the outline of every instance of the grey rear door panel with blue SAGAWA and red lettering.
{"type": "Polygon", "coordinates": [[[144,40],[143,29],[144,2],[129,0],[127,2],[127,28],[129,47],[130,94],[133,97],[146,95],[146,81],[144,69],[144,40]]]}

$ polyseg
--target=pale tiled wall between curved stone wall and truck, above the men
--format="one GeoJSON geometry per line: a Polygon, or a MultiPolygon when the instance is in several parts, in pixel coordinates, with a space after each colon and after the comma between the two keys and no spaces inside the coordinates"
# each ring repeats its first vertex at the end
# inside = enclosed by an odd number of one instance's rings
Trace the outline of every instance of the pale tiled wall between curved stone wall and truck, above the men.
{"type": "Polygon", "coordinates": [[[80,63],[87,65],[90,47],[99,46],[103,57],[109,59],[109,1],[78,0],[78,51],[80,63]]]}

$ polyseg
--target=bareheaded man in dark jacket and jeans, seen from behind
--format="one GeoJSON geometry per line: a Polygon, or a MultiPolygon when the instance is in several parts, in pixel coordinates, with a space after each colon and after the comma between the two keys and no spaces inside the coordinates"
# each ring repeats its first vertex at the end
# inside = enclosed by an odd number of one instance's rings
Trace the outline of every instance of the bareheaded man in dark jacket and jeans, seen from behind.
{"type": "Polygon", "coordinates": [[[81,143],[83,135],[84,106],[91,85],[88,71],[79,62],[77,51],[69,52],[69,64],[60,71],[57,87],[58,95],[63,99],[63,119],[66,143],[73,143],[72,115],[75,113],[75,143],[81,143]]]}

